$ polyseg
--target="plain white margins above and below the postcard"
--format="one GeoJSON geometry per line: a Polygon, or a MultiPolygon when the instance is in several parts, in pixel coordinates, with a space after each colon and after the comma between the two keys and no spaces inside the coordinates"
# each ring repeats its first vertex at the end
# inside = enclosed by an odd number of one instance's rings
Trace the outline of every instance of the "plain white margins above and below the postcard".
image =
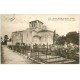
{"type": "MultiPolygon", "coordinates": [[[[0,14],[80,14],[80,0],[0,0],[0,14]]],[[[1,64],[1,80],[80,80],[80,65],[1,64]]]]}

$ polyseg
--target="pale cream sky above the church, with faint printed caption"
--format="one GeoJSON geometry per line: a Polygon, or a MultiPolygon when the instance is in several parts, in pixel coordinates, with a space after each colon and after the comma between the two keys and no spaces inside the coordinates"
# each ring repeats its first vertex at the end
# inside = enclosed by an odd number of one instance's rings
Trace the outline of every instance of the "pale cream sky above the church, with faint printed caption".
{"type": "Polygon", "coordinates": [[[1,15],[1,36],[11,37],[12,32],[29,28],[29,22],[40,20],[47,29],[59,35],[66,35],[71,31],[79,31],[80,15],[75,14],[3,14],[1,15]]]}

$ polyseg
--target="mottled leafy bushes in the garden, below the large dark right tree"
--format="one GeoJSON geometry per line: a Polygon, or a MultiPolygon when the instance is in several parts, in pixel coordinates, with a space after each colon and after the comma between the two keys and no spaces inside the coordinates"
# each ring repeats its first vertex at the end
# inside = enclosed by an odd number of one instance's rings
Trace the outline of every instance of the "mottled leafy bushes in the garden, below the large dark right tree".
{"type": "Polygon", "coordinates": [[[77,54],[79,52],[79,46],[77,45],[68,46],[66,48],[64,46],[58,46],[54,48],[53,52],[64,58],[79,60],[79,55],[77,54]]]}

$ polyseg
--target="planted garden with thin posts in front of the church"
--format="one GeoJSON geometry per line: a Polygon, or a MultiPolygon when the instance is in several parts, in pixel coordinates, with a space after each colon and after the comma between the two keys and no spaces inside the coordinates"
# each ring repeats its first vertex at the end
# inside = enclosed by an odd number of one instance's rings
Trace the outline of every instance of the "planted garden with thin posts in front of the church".
{"type": "Polygon", "coordinates": [[[13,51],[27,55],[37,63],[79,63],[78,46],[53,46],[53,45],[9,45],[13,51]]]}

